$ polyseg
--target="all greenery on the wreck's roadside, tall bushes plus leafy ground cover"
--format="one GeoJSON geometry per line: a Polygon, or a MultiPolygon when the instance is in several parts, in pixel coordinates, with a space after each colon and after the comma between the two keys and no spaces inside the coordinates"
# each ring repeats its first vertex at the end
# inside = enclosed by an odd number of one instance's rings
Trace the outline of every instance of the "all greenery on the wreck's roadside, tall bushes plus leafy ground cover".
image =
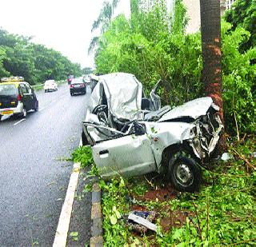
{"type": "MultiPolygon", "coordinates": [[[[182,1],[176,1],[174,15],[167,13],[164,0],[150,1],[150,6],[137,0],[131,3],[130,20],[123,15],[111,18],[97,38],[98,73],[135,74],[147,93],[162,78],[162,102],[170,106],[202,97],[201,34],[185,34],[182,1]]],[[[236,0],[222,18],[223,100],[230,159],[214,160],[203,169],[199,193],[179,193],[168,177],[157,174],[100,180],[104,245],[255,245],[255,8],[253,0],[236,0]],[[138,233],[127,225],[133,210],[154,211],[157,232],[138,233]]],[[[74,158],[88,165],[93,161],[89,148],[85,149],[74,158]]],[[[93,166],[92,173],[96,172],[93,166]]]]}

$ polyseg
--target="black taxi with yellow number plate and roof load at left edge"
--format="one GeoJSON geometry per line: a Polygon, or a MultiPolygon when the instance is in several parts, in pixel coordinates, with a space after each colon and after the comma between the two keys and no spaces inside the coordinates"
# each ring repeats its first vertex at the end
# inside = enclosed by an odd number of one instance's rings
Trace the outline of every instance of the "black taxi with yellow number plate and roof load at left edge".
{"type": "Polygon", "coordinates": [[[0,120],[2,116],[26,118],[29,110],[38,111],[38,99],[22,77],[2,78],[0,83],[0,120]]]}

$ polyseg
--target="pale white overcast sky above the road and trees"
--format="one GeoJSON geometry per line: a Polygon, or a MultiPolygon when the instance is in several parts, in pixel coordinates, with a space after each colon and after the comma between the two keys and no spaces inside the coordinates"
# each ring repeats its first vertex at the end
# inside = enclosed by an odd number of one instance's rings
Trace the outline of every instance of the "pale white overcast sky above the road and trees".
{"type": "MultiPolygon", "coordinates": [[[[112,0],[111,0],[112,1],[112,0]]],[[[0,27],[11,34],[33,36],[33,42],[60,51],[84,66],[93,66],[87,50],[91,26],[104,0],[0,0],[0,27]]],[[[121,0],[116,13],[129,15],[130,0],[121,0]]]]}

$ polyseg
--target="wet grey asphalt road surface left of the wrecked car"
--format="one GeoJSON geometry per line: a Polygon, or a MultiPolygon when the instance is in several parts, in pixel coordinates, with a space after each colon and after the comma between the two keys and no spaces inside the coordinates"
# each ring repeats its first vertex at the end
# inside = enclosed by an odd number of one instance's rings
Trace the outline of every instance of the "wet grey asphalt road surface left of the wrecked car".
{"type": "Polygon", "coordinates": [[[0,122],[0,245],[50,246],[86,114],[86,95],[38,92],[39,111],[0,122]]]}

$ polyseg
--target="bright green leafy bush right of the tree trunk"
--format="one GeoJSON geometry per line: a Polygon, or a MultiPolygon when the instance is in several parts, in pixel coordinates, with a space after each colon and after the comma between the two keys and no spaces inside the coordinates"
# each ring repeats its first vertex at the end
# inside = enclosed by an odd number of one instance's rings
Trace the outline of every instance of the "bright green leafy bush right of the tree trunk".
{"type": "Polygon", "coordinates": [[[226,129],[230,133],[255,131],[256,48],[243,54],[241,44],[250,33],[242,27],[231,31],[231,25],[222,22],[223,101],[226,129]]]}

